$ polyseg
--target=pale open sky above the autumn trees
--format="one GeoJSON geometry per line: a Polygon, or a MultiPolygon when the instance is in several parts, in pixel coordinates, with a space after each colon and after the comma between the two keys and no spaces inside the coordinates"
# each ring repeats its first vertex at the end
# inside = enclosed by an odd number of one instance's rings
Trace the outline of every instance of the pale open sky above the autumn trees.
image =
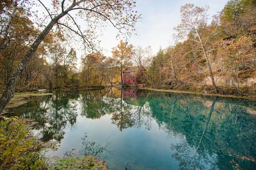
{"type": "MultiPolygon", "coordinates": [[[[51,7],[51,0],[42,0],[42,2],[47,8],[51,7]]],[[[143,22],[137,23],[138,35],[129,38],[128,42],[134,46],[140,45],[142,48],[151,46],[153,55],[157,54],[160,46],[164,49],[173,45],[172,34],[175,33],[173,28],[180,23],[180,7],[186,3],[194,3],[195,6],[208,5],[210,7],[208,14],[211,17],[224,8],[227,0],[136,0],[137,7],[135,11],[142,14],[143,22]]],[[[35,7],[35,10],[46,12],[42,6],[35,7]]],[[[83,23],[79,24],[83,28],[83,23]]],[[[119,40],[116,40],[117,34],[118,30],[109,26],[103,30],[103,36],[98,38],[98,40],[101,40],[102,53],[107,57],[111,57],[112,48],[119,43],[119,40]]],[[[76,48],[76,45],[73,48],[76,49],[79,66],[80,57],[84,54],[84,51],[76,48]]]]}

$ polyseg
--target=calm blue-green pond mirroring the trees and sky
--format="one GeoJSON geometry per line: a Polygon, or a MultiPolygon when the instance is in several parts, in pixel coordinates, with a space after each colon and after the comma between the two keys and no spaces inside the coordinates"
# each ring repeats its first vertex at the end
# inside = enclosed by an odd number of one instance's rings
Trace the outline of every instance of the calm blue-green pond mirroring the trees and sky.
{"type": "Polygon", "coordinates": [[[47,156],[99,156],[111,170],[256,170],[253,101],[117,88],[30,99],[12,114],[60,142],[47,156]]]}

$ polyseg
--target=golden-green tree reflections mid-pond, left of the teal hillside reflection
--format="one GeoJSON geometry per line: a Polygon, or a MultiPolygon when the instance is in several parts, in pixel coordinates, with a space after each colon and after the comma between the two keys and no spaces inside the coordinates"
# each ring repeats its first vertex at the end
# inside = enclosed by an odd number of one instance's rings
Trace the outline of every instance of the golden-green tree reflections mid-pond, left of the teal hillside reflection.
{"type": "Polygon", "coordinates": [[[145,125],[150,130],[151,116],[144,109],[145,96],[137,94],[135,89],[130,89],[135,100],[129,100],[130,96],[123,95],[123,90],[110,88],[102,91],[81,92],[81,115],[90,119],[99,119],[105,114],[112,114],[112,123],[122,131],[128,127],[141,127],[145,125]],[[119,96],[119,99],[118,99],[119,96]],[[147,119],[143,119],[146,116],[147,119]]]}

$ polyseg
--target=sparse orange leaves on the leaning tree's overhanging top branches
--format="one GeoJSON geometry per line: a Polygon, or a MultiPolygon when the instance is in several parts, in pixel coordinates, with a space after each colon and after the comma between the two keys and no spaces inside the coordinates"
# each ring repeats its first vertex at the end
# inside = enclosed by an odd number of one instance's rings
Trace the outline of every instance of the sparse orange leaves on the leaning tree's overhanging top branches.
{"type": "MultiPolygon", "coordinates": [[[[77,29],[81,29],[83,32],[83,28],[76,29],[77,24],[75,23],[76,20],[81,19],[91,30],[95,30],[99,27],[103,28],[111,24],[123,35],[131,37],[131,35],[136,34],[134,27],[137,21],[141,19],[140,15],[136,14],[137,11],[133,10],[133,8],[136,7],[136,2],[134,0],[79,0],[72,4],[67,1],[62,4],[60,2],[60,0],[52,0],[52,3],[50,4],[53,8],[52,12],[55,14],[61,14],[62,10],[73,11],[73,13],[70,13],[69,17],[66,16],[61,23],[75,30],[73,31],[75,34],[81,35],[80,31],[77,31],[77,29]],[[74,16],[74,20],[72,20],[72,15],[74,16]],[[75,26],[72,26],[70,24],[71,22],[73,22],[75,26]],[[129,28],[130,31],[127,28],[129,28]]],[[[48,4],[44,5],[48,8],[48,4]]],[[[51,11],[49,12],[51,13],[51,11]]],[[[48,14],[44,14],[46,18],[47,15],[48,14]]],[[[68,28],[63,28],[63,25],[60,27],[61,30],[68,30],[68,28]]],[[[119,35],[117,37],[119,37],[119,35]]],[[[85,34],[84,37],[91,37],[91,35],[85,34]]],[[[87,40],[83,39],[83,41],[87,40]]],[[[85,42],[85,44],[87,44],[89,48],[92,48],[91,46],[93,45],[93,41],[85,42]]]]}

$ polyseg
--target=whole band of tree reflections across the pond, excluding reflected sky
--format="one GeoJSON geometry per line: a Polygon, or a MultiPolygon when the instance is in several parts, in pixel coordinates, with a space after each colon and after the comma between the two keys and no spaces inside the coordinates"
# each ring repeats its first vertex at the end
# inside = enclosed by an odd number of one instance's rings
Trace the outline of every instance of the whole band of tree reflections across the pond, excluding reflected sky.
{"type": "MultiPolygon", "coordinates": [[[[243,169],[256,169],[256,105],[247,100],[169,94],[136,89],[109,88],[98,91],[55,92],[52,96],[32,97],[32,103],[13,109],[15,116],[35,119],[35,129],[44,141],[63,139],[65,128],[74,128],[78,116],[100,119],[111,116],[111,123],[126,128],[151,130],[156,124],[172,143],[172,156],[181,169],[230,169],[234,159],[243,169]],[[22,111],[21,111],[22,110],[22,111]],[[155,123],[156,122],[156,123],[155,123]],[[240,156],[240,158],[239,158],[240,156]]],[[[86,142],[84,154],[108,153],[107,146],[86,142]],[[92,150],[90,150],[92,148],[92,150]]],[[[104,155],[101,155],[104,156],[104,155]]],[[[129,162],[129,160],[127,160],[129,162]]]]}

